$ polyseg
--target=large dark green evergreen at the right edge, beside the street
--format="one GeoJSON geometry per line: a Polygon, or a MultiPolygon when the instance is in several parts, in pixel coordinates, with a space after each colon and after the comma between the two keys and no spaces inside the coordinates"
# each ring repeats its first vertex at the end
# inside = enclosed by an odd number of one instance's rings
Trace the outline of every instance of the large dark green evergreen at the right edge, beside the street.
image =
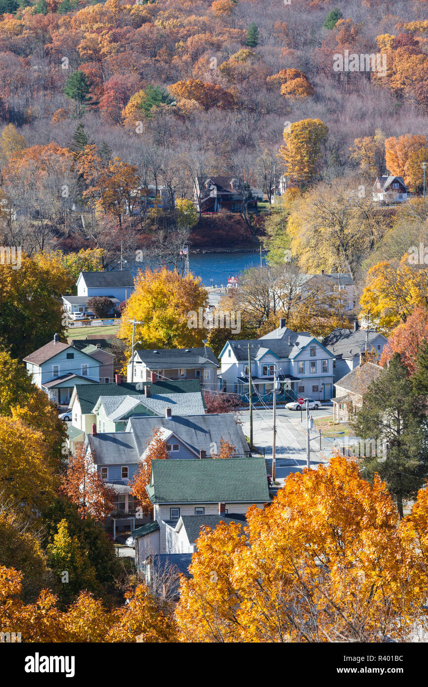
{"type": "Polygon", "coordinates": [[[382,452],[363,460],[364,474],[372,479],[379,473],[403,517],[403,502],[416,497],[428,477],[428,447],[425,399],[414,395],[412,380],[398,353],[387,370],[370,383],[350,425],[362,441],[374,439],[386,445],[386,455],[382,452]]]}

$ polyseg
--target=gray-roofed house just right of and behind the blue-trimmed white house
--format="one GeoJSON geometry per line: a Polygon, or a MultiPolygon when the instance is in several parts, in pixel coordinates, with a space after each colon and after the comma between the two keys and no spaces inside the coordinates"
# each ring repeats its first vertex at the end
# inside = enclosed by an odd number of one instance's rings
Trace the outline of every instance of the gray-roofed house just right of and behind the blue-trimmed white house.
{"type": "Polygon", "coordinates": [[[383,334],[360,329],[358,322],[354,322],[354,329],[333,329],[322,345],[335,357],[335,383],[361,364],[366,351],[375,353],[379,360],[385,343],[387,338],[383,334]]]}

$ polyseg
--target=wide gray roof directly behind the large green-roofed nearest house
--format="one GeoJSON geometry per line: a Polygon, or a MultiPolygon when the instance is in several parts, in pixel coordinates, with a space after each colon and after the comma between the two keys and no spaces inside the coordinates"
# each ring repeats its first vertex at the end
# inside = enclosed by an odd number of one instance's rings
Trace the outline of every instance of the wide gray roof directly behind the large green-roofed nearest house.
{"type": "Polygon", "coordinates": [[[134,434],[140,456],[146,451],[154,427],[171,431],[198,456],[201,449],[206,452],[206,455],[210,455],[212,444],[217,444],[218,450],[222,438],[235,445],[236,455],[249,453],[249,446],[245,440],[243,429],[240,425],[236,425],[232,413],[173,415],[171,418],[161,416],[129,418],[126,429],[134,434]]]}

